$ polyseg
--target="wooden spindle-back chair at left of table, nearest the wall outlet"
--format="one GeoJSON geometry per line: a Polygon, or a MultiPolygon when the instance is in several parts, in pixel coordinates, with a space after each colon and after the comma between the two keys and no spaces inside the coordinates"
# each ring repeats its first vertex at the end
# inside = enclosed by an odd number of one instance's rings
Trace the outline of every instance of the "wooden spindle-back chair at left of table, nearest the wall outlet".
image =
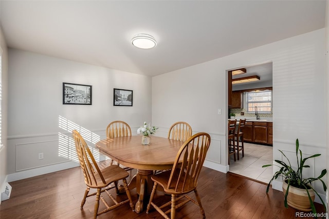
{"type": "Polygon", "coordinates": [[[129,173],[117,165],[112,165],[112,166],[108,166],[104,169],[100,169],[98,167],[98,164],[97,164],[92,152],[90,151],[87,143],[82,138],[80,133],[76,130],[73,130],[72,137],[75,140],[80,166],[81,166],[81,169],[82,169],[82,172],[84,175],[85,184],[87,186],[80,208],[83,208],[83,205],[85,204],[87,197],[96,195],[94,218],[96,218],[100,214],[103,214],[107,211],[115,209],[127,202],[129,202],[130,207],[134,211],[135,205],[133,203],[133,199],[130,195],[130,190],[129,190],[129,187],[128,187],[127,181],[126,181],[126,177],[129,176],[129,173]],[[127,199],[123,200],[121,202],[118,202],[114,198],[114,196],[111,193],[109,193],[109,191],[108,191],[110,189],[115,188],[115,187],[109,187],[109,185],[112,184],[113,182],[116,182],[119,180],[123,181],[123,187],[124,187],[125,193],[127,195],[127,199]],[[97,192],[95,192],[93,194],[88,194],[90,188],[97,189],[97,192]],[[114,205],[109,206],[107,204],[106,200],[101,195],[103,192],[105,192],[108,195],[108,197],[112,199],[112,201],[114,202],[114,205]],[[99,200],[102,200],[102,202],[104,203],[104,205],[106,207],[104,210],[102,210],[100,212],[98,212],[99,200]]]}

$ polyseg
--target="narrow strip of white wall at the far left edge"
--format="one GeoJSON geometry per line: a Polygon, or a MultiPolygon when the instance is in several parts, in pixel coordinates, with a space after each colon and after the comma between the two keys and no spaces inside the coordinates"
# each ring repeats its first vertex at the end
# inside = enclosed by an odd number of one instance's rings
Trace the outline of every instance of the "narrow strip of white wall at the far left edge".
{"type": "MultiPolygon", "coordinates": [[[[0,26],[0,48],[2,49],[2,143],[0,149],[0,192],[5,191],[5,182],[7,181],[7,115],[8,115],[8,50],[5,37],[0,26]]],[[[1,198],[0,198],[1,204],[1,198]]]]}

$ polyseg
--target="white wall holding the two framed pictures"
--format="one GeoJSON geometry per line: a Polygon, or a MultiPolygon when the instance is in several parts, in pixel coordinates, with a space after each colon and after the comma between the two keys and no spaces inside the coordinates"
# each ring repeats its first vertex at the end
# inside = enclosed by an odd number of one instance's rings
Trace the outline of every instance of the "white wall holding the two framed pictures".
{"type": "Polygon", "coordinates": [[[73,128],[85,130],[93,145],[106,138],[113,120],[126,121],[133,133],[151,122],[151,78],[9,49],[8,107],[8,181],[13,181],[77,166],[70,162],[73,128]],[[92,105],[63,105],[63,82],[92,85],[92,105]],[[113,88],[133,90],[133,106],[113,106],[113,88]]]}

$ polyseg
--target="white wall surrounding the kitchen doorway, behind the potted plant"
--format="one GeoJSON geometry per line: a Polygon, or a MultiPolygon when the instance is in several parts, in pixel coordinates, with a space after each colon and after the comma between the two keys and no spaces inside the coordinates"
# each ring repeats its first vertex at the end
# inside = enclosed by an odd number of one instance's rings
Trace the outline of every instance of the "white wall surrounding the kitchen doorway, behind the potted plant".
{"type": "Polygon", "coordinates": [[[326,102],[324,29],[153,77],[152,122],[163,134],[178,120],[208,132],[205,165],[226,172],[227,70],[266,62],[273,63],[273,159],[281,159],[278,149],[293,155],[299,138],[305,153],[322,154],[308,173],[318,175],[326,154],[326,121],[318,117],[326,102]]]}

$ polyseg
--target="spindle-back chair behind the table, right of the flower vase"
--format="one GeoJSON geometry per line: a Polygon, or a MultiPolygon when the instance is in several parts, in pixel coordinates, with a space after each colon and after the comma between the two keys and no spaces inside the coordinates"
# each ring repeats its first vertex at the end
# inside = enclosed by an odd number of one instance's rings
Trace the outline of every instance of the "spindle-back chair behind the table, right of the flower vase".
{"type": "Polygon", "coordinates": [[[175,122],[171,125],[168,138],[178,141],[186,141],[192,136],[192,127],[187,122],[175,122]]]}

